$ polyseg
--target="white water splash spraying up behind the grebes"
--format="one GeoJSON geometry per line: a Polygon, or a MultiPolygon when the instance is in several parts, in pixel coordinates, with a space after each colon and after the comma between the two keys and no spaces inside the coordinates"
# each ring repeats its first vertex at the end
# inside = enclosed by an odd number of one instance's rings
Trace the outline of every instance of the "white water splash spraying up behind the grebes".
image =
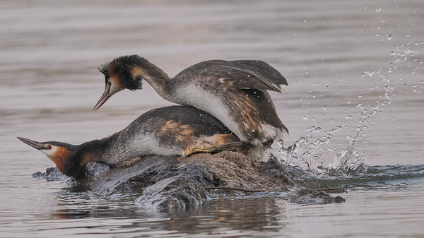
{"type": "MultiPolygon", "coordinates": [[[[322,129],[320,127],[311,126],[307,129],[305,136],[302,136],[293,145],[285,148],[283,141],[278,141],[280,146],[280,160],[285,165],[298,166],[302,169],[310,170],[315,174],[328,174],[331,176],[339,175],[357,175],[363,174],[368,167],[364,162],[365,150],[367,148],[367,129],[370,123],[370,117],[381,112],[385,105],[391,103],[391,96],[394,89],[398,86],[405,85],[401,78],[401,72],[397,73],[395,81],[391,82],[389,73],[398,69],[398,66],[404,64],[408,59],[413,58],[418,52],[412,47],[404,49],[404,44],[396,45],[396,52],[391,52],[393,61],[389,63],[386,70],[380,68],[378,71],[365,71],[363,77],[378,77],[382,85],[384,85],[384,95],[379,95],[376,105],[371,105],[370,109],[360,105],[360,119],[356,126],[355,136],[347,136],[349,145],[347,148],[338,152],[336,148],[331,148],[329,143],[334,133],[338,133],[346,127],[351,116],[347,116],[341,125],[331,129],[324,136],[314,138],[322,129]]],[[[413,70],[413,75],[417,77],[418,68],[413,70]]]]}

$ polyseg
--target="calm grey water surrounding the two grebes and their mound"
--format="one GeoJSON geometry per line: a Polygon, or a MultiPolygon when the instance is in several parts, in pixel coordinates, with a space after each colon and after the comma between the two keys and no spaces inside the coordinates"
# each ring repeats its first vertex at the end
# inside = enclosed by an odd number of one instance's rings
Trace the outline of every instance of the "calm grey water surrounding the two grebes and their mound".
{"type": "Polygon", "coordinates": [[[370,117],[363,159],[423,165],[423,14],[420,0],[1,1],[0,236],[423,236],[422,169],[396,177],[391,167],[392,177],[349,180],[342,204],[229,197],[156,213],[131,204],[130,195],[76,194],[65,182],[31,177],[52,162],[16,139],[78,144],[169,105],[145,83],[142,91],[124,91],[91,111],[104,88],[97,66],[141,54],[170,76],[207,59],[267,61],[290,83],[272,94],[290,129],[285,145],[310,126],[325,133],[347,117],[331,138],[343,150],[360,112],[384,96],[382,77],[363,73],[384,73],[391,64],[396,87],[390,103],[370,117]],[[418,53],[391,56],[408,47],[418,53]]]}

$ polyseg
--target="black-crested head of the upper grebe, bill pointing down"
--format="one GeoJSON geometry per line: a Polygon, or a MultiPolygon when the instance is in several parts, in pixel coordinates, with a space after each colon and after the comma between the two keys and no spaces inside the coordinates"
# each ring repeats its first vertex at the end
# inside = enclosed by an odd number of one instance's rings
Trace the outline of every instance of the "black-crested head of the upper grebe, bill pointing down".
{"type": "Polygon", "coordinates": [[[110,61],[110,63],[100,65],[98,70],[105,76],[105,92],[93,110],[95,111],[102,107],[112,95],[121,90],[126,88],[131,91],[141,89],[141,77],[138,76],[140,69],[137,66],[141,65],[142,62],[143,58],[134,54],[120,56],[110,61]]]}

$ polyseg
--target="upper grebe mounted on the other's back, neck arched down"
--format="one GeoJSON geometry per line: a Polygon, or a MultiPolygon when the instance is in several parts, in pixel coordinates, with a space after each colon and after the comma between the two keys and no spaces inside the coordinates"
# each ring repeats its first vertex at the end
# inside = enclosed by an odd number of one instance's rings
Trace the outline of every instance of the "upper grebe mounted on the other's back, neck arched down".
{"type": "Polygon", "coordinates": [[[94,110],[120,90],[141,89],[144,79],[165,100],[208,112],[246,143],[269,144],[288,133],[266,92],[281,93],[280,85],[288,83],[264,61],[204,61],[170,78],[148,60],[131,55],[103,64],[99,71],[105,75],[105,93],[94,110]]]}

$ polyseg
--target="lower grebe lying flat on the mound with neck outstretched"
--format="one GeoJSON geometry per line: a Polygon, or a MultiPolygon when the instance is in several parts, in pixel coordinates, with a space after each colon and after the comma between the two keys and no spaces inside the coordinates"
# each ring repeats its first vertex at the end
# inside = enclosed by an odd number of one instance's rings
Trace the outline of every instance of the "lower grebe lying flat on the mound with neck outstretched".
{"type": "Polygon", "coordinates": [[[61,173],[76,179],[83,177],[90,161],[114,165],[145,155],[187,156],[245,146],[218,119],[187,106],[152,109],[122,131],[81,145],[18,139],[47,155],[61,173]]]}

